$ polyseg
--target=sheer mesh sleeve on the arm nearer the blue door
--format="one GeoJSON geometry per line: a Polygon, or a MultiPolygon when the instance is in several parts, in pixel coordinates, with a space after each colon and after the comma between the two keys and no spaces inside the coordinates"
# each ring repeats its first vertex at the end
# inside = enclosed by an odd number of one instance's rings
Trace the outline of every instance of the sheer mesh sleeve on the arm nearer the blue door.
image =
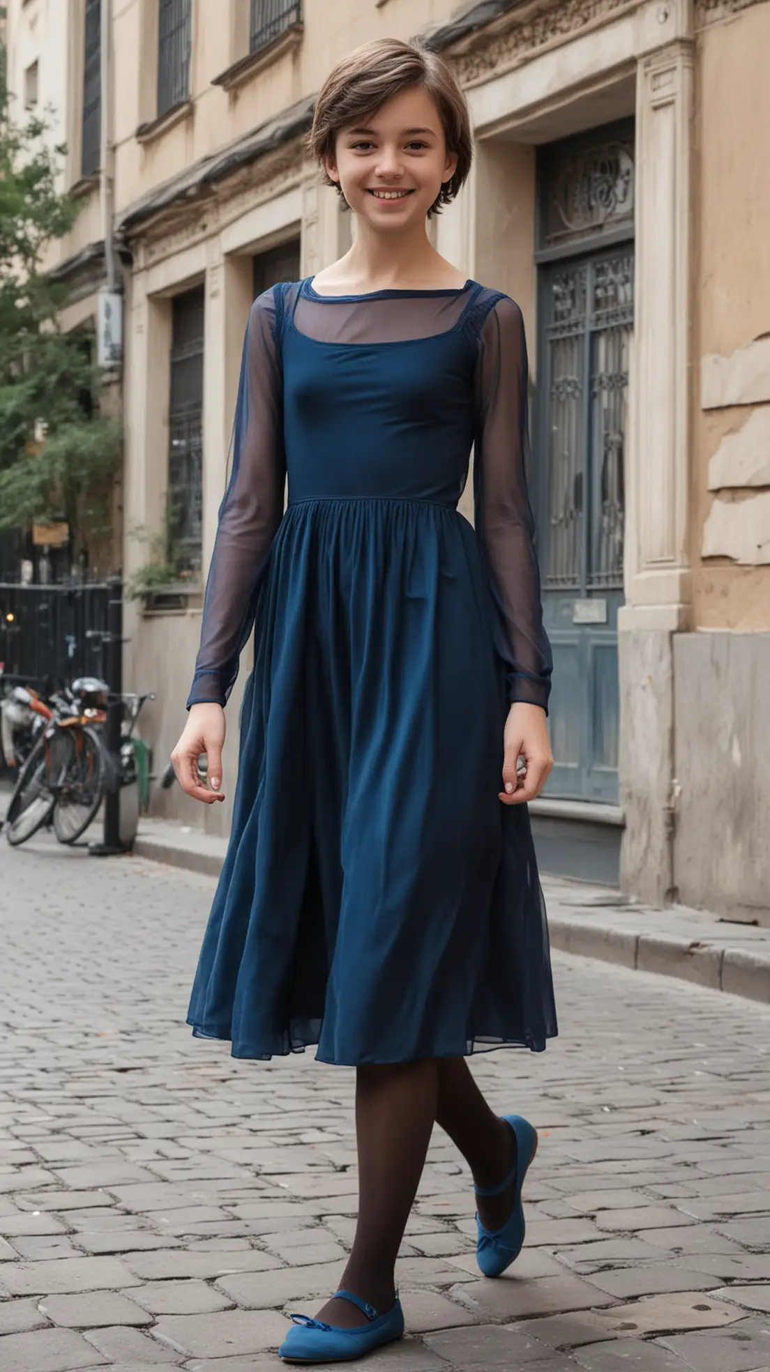
{"type": "Polygon", "coordinates": [[[495,646],[508,700],[548,712],[552,656],[542,627],[534,519],[527,493],[527,344],[506,296],[489,311],[476,373],[475,525],[497,606],[495,646]]]}

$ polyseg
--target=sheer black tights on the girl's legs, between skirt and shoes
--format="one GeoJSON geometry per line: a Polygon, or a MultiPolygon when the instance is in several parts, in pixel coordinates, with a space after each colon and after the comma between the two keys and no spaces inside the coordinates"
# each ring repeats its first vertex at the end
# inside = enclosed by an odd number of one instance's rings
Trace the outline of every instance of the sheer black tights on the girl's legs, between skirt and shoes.
{"type": "MultiPolygon", "coordinates": [[[[384,1314],[395,1299],[395,1259],[425,1163],[434,1121],[467,1159],[474,1181],[494,1187],[511,1170],[515,1137],[479,1091],[464,1058],[358,1067],[358,1222],[340,1287],[384,1314]]],[[[505,1224],[512,1191],[478,1198],[482,1222],[505,1224]]],[[[318,1312],[329,1324],[354,1328],[364,1316],[349,1301],[318,1312]]]]}

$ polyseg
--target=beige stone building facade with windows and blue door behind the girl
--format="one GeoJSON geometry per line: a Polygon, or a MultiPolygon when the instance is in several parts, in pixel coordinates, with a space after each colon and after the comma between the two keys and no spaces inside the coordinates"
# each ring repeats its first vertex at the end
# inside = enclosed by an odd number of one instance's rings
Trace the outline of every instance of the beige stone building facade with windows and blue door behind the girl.
{"type": "Polygon", "coordinates": [[[107,237],[125,294],[124,567],[169,499],[184,554],[129,613],[156,756],[184,722],[251,300],[350,241],[303,152],[314,93],[357,44],[415,34],[454,63],[476,134],[435,241],[527,324],[556,663],[542,866],[767,922],[769,0],[11,0],[12,80],[51,73],[84,196],[55,263],[69,327],[95,317],[107,237]],[[95,4],[107,123],[86,176],[95,4]]]}

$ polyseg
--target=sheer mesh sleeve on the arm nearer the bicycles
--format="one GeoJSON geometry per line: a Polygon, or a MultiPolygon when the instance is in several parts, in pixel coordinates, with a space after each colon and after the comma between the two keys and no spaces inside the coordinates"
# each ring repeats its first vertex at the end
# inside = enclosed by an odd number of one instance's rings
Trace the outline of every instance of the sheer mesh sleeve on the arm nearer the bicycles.
{"type": "Polygon", "coordinates": [[[229,697],[254,623],[261,575],[283,516],[283,386],[275,332],[276,303],[270,289],[251,306],[246,329],[233,465],[220,506],[188,709],[202,701],[224,705],[229,697]]]}

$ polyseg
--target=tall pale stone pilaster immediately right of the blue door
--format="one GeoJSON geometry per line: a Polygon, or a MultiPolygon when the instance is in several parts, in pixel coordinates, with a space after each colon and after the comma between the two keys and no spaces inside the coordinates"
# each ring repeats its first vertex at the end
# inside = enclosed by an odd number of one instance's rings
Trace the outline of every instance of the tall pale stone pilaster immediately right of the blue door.
{"type": "Polygon", "coordinates": [[[635,338],[627,466],[626,605],[619,615],[620,879],[642,900],[675,892],[673,635],[686,628],[689,475],[689,41],[637,74],[635,338]]]}

